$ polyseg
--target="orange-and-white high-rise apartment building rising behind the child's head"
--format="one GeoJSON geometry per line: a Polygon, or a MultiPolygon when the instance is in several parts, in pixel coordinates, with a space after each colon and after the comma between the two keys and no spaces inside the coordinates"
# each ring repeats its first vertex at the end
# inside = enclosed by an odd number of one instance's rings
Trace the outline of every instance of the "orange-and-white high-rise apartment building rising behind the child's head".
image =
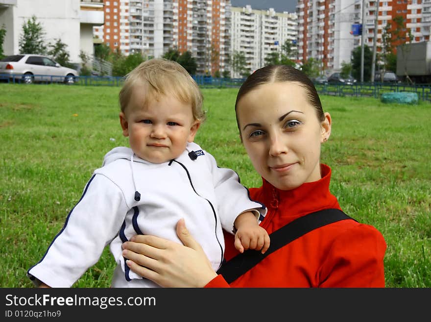
{"type": "Polygon", "coordinates": [[[105,25],[95,35],[112,50],[160,57],[189,50],[197,73],[220,73],[230,50],[230,0],[105,0],[105,25]]]}

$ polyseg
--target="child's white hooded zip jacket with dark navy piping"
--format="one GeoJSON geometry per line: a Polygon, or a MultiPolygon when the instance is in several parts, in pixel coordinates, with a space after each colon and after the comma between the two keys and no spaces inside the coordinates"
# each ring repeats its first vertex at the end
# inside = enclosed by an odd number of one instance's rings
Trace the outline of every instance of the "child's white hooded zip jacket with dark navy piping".
{"type": "Polygon", "coordinates": [[[224,252],[222,228],[233,230],[237,216],[266,208],[250,200],[233,170],[218,168],[216,160],[195,143],[176,159],[155,164],[129,148],[105,155],[102,168],[88,181],[62,230],[28,276],[51,287],[71,287],[96,264],[105,246],[117,261],[113,287],[157,287],[129,271],[121,244],[137,234],[155,235],[181,243],[176,223],[184,218],[188,230],[217,270],[224,252]]]}

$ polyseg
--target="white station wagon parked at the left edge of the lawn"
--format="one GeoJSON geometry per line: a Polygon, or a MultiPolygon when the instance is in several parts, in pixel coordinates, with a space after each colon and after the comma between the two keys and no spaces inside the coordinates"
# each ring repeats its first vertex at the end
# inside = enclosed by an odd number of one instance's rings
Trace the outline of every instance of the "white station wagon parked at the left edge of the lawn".
{"type": "Polygon", "coordinates": [[[73,84],[78,72],[61,66],[51,58],[36,54],[18,54],[0,59],[0,78],[33,81],[64,82],[73,84]]]}

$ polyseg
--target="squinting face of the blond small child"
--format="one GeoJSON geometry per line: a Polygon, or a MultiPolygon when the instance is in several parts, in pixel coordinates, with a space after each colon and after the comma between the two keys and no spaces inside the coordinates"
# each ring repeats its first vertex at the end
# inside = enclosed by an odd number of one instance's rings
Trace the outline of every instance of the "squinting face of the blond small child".
{"type": "Polygon", "coordinates": [[[171,96],[147,99],[144,90],[134,90],[125,113],[120,113],[123,135],[141,159],[152,163],[178,157],[193,142],[200,125],[192,114],[192,105],[171,96]]]}

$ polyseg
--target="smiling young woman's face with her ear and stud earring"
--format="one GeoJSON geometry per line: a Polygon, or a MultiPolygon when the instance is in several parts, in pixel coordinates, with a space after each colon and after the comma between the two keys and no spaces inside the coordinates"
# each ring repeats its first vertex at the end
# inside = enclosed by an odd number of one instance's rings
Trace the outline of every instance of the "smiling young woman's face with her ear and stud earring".
{"type": "Polygon", "coordinates": [[[269,183],[290,190],[321,178],[320,145],[331,134],[331,116],[317,119],[302,86],[261,85],[239,100],[237,114],[248,156],[269,183]]]}

